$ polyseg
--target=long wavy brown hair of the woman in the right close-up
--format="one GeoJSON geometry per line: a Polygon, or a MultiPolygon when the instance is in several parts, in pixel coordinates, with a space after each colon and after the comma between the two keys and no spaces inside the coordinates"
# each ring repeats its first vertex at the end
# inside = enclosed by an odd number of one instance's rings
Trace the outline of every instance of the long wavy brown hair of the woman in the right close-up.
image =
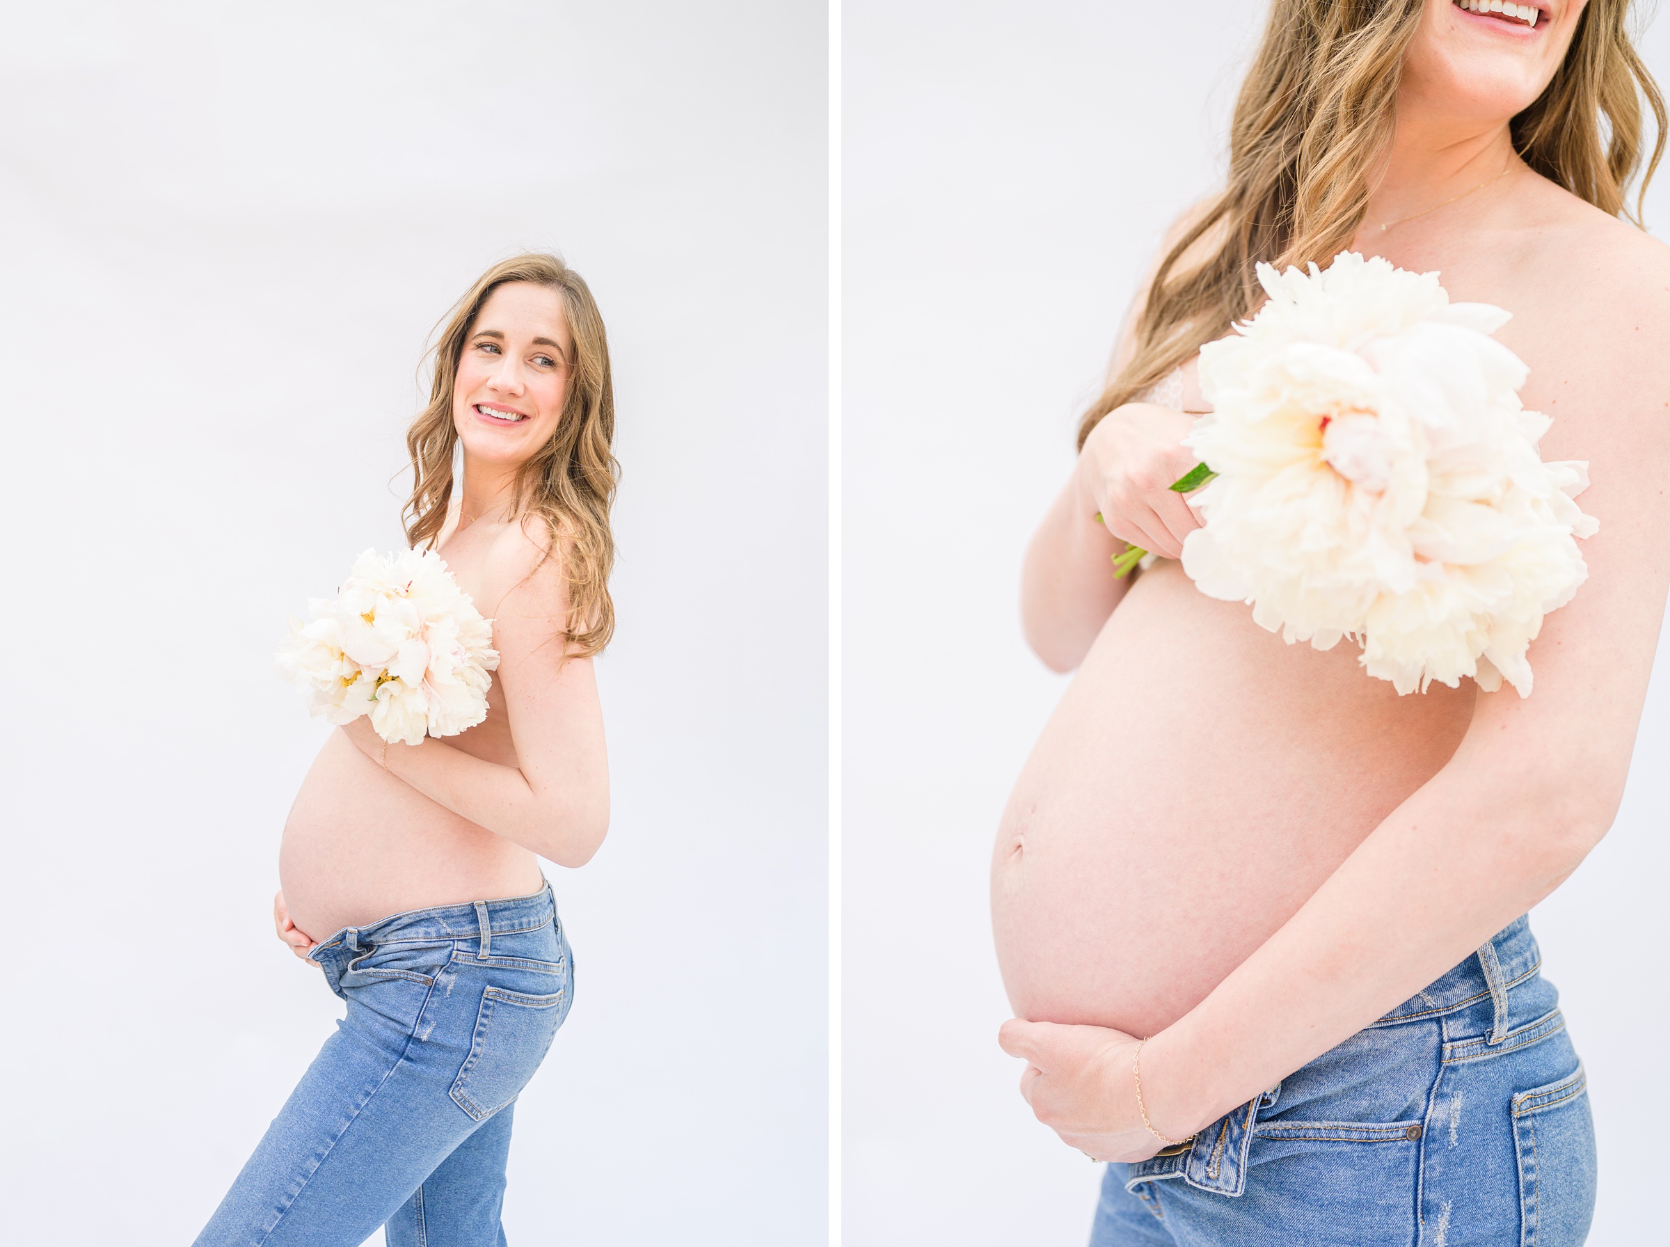
{"type": "MultiPolygon", "coordinates": [[[[1510,124],[1533,170],[1640,225],[1665,149],[1665,103],[1630,38],[1632,0],[1590,0],[1553,80],[1510,124]],[[1657,139],[1637,210],[1643,107],[1657,139]]],[[[1391,147],[1403,53],[1425,0],[1273,0],[1229,139],[1229,182],[1196,212],[1154,272],[1134,351],[1079,421],[1079,446],[1206,342],[1252,314],[1258,260],[1328,264],[1349,249],[1391,147]]]]}

